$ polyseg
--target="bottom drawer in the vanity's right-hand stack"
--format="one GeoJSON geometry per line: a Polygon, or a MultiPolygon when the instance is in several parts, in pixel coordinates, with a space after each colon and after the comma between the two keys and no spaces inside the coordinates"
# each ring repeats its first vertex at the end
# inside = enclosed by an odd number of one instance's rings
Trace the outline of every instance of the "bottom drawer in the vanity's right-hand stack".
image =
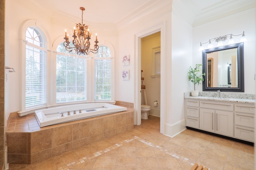
{"type": "Polygon", "coordinates": [[[235,137],[246,141],[254,142],[254,129],[236,126],[235,137]]]}

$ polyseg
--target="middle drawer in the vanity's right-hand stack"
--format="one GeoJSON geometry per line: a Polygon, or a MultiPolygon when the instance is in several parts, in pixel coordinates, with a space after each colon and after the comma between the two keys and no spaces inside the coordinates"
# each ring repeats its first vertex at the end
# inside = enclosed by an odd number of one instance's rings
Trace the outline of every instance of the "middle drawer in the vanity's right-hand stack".
{"type": "Polygon", "coordinates": [[[254,115],[235,112],[235,124],[254,127],[254,115]]]}

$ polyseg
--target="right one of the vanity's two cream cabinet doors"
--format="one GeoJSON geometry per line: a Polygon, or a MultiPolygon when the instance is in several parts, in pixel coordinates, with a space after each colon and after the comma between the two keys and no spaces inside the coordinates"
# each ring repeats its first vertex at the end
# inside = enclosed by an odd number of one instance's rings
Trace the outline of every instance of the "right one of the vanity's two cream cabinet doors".
{"type": "Polygon", "coordinates": [[[231,111],[215,110],[216,133],[233,137],[234,113],[231,111]]]}

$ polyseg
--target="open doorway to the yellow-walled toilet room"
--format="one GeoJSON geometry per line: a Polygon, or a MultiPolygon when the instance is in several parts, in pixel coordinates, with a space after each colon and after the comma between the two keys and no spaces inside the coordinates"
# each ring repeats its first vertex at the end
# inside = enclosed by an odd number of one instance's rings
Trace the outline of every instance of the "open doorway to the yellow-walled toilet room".
{"type": "MultiPolygon", "coordinates": [[[[150,106],[149,115],[156,117],[160,117],[160,33],[141,39],[141,75],[144,79],[141,81],[141,104],[150,106]]],[[[142,113],[142,119],[146,119],[146,115],[142,113]]]]}

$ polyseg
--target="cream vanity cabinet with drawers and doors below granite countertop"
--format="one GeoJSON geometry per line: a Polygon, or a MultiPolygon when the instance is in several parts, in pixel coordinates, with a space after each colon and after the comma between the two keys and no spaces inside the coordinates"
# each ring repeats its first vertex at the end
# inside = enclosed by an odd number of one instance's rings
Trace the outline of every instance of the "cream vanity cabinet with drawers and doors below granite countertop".
{"type": "Polygon", "coordinates": [[[186,126],[254,142],[253,103],[185,99],[186,126]]]}

